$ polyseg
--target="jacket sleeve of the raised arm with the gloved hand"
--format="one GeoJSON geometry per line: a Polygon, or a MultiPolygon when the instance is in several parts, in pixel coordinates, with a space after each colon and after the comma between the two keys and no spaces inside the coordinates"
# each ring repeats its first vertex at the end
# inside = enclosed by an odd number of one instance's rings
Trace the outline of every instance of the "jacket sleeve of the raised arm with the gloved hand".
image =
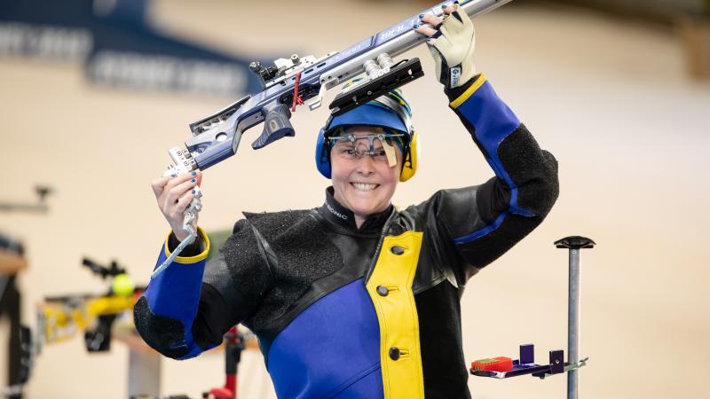
{"type": "Polygon", "coordinates": [[[437,192],[422,208],[434,215],[438,236],[459,254],[454,271],[465,284],[548,215],[559,192],[557,162],[540,149],[484,74],[447,95],[495,174],[485,184],[437,192]]]}

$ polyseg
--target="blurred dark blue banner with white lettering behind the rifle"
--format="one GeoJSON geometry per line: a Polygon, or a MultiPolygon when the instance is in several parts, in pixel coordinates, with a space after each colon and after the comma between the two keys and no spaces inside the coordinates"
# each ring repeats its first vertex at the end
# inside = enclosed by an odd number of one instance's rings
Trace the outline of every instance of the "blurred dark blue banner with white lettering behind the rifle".
{"type": "Polygon", "coordinates": [[[149,0],[0,3],[0,56],[80,61],[91,82],[238,96],[261,90],[242,59],[157,32],[149,0]]]}

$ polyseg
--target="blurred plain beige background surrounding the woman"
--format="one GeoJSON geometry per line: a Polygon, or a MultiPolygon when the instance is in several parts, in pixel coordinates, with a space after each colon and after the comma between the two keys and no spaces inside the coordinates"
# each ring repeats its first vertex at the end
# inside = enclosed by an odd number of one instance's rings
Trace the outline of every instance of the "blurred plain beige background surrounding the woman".
{"type": "MultiPolygon", "coordinates": [[[[172,35],[234,54],[319,57],[427,5],[162,0],[151,18],[172,35]]],[[[517,357],[527,342],[539,363],[548,350],[566,351],[567,251],[552,243],[579,234],[598,244],[581,254],[580,355],[590,360],[580,397],[704,396],[710,84],[687,74],[682,43],[667,26],[516,2],[475,23],[478,69],[555,154],[561,189],[545,223],[469,282],[467,361],[517,357]]],[[[448,110],[428,51],[406,55],[422,59],[427,76],[405,88],[422,156],[418,176],[398,188],[400,206],[493,175],[448,110]]],[[[45,295],[104,291],[80,266],[83,256],[116,259],[145,284],[167,233],[149,183],[169,162],[168,148],[188,137],[187,124],[234,98],[114,90],[86,82],[81,65],[20,57],[0,59],[0,88],[2,200],[33,200],[37,183],[56,188],[47,215],[0,214],[0,228],[28,249],[25,323],[34,324],[45,295]]],[[[296,138],[259,152],[248,144],[260,128],[248,131],[236,157],[205,173],[201,226],[229,228],[241,211],[319,206],[327,180],[312,153],[326,117],[326,107],[299,108],[296,138]]],[[[77,335],[43,348],[27,397],[125,398],[127,365],[122,343],[89,355],[77,335]]],[[[224,383],[222,354],[165,359],[162,370],[162,395],[199,397],[224,383]]],[[[469,379],[476,399],[559,398],[565,385],[563,376],[469,379]]],[[[260,354],[243,357],[239,388],[241,398],[275,397],[260,354]]]]}

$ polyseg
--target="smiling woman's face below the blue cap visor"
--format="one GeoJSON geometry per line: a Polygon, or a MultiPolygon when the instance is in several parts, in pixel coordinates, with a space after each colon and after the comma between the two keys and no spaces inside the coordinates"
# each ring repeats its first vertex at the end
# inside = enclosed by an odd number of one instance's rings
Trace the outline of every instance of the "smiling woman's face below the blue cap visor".
{"type": "MultiPolygon", "coordinates": [[[[356,126],[345,130],[346,135],[376,135],[379,129],[369,126],[356,126]]],[[[367,138],[356,140],[359,151],[369,149],[367,138]]],[[[356,218],[367,219],[368,215],[383,212],[390,206],[390,200],[399,182],[402,165],[402,153],[397,145],[393,150],[397,164],[390,167],[383,156],[383,144],[375,138],[373,142],[375,156],[357,156],[352,154],[352,143],[338,140],[330,152],[331,178],[335,189],[335,200],[347,207],[356,218]]]]}

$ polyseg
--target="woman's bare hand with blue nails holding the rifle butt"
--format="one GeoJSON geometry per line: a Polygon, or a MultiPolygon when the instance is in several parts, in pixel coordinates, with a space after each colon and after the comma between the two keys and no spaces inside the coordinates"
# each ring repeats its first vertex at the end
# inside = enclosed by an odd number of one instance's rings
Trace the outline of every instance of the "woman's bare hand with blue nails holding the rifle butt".
{"type": "MultiPolygon", "coordinates": [[[[155,179],[151,186],[165,220],[175,233],[175,237],[183,241],[188,233],[183,230],[183,213],[194,198],[193,188],[202,183],[202,173],[194,171],[177,177],[161,177],[155,179]]],[[[197,223],[195,215],[195,223],[197,223]]]]}

